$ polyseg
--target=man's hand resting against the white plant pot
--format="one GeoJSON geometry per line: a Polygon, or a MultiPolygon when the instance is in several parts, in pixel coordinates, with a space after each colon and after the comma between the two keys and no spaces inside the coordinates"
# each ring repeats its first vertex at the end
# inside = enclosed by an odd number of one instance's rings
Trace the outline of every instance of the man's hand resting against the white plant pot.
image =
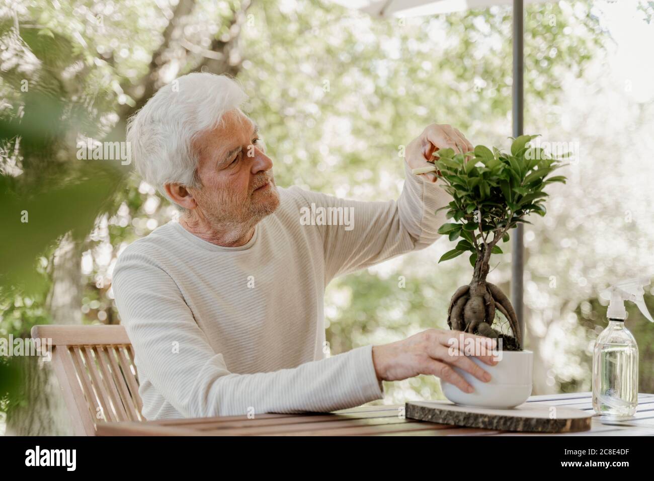
{"type": "Polygon", "coordinates": [[[464,355],[468,343],[473,343],[475,348],[479,347],[475,357],[483,363],[489,366],[498,363],[493,359],[495,344],[491,338],[458,330],[428,329],[397,342],[373,346],[372,357],[377,379],[399,381],[419,374],[432,374],[464,392],[472,393],[472,385],[453,366],[470,372],[483,382],[490,381],[490,374],[464,355]],[[460,344],[461,341],[463,345],[460,344]]]}

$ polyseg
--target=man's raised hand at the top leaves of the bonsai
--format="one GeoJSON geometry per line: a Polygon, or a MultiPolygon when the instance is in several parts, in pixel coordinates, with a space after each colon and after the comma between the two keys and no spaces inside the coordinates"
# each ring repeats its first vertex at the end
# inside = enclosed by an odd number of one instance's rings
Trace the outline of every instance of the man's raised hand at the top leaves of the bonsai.
{"type": "MultiPolygon", "coordinates": [[[[405,152],[406,162],[411,169],[433,167],[428,163],[433,160],[432,154],[439,149],[453,149],[455,153],[472,152],[474,148],[460,130],[448,124],[428,125],[418,137],[413,139],[405,152]]],[[[438,180],[436,173],[422,173],[426,179],[435,183],[438,180]]]]}

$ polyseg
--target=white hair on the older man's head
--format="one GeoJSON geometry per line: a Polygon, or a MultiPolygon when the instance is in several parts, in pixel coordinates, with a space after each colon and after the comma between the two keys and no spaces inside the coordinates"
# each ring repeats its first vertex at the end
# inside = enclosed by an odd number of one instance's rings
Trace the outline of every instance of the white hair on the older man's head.
{"type": "Polygon", "coordinates": [[[165,184],[200,187],[194,140],[247,99],[236,80],[213,73],[188,73],[160,88],[128,120],[127,141],[141,177],[166,197],[165,184]]]}

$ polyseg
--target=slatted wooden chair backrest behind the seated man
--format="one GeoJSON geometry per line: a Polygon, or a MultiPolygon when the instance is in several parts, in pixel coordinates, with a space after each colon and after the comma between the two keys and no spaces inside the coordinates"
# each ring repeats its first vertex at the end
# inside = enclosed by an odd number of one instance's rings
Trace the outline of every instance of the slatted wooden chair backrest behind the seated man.
{"type": "Polygon", "coordinates": [[[122,326],[39,325],[52,339],[52,365],[76,435],[94,436],[107,421],[145,421],[134,351],[122,326]]]}

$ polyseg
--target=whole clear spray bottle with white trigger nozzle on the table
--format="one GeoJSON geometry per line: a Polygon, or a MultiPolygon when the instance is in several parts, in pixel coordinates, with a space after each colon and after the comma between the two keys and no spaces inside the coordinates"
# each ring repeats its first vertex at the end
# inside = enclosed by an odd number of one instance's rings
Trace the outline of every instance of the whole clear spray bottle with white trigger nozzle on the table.
{"type": "Polygon", "coordinates": [[[602,292],[608,299],[609,325],[598,336],[593,351],[593,408],[610,418],[629,418],[638,407],[638,346],[625,327],[625,300],[636,303],[640,312],[654,322],[645,306],[643,286],[647,277],[629,279],[602,292]]]}

